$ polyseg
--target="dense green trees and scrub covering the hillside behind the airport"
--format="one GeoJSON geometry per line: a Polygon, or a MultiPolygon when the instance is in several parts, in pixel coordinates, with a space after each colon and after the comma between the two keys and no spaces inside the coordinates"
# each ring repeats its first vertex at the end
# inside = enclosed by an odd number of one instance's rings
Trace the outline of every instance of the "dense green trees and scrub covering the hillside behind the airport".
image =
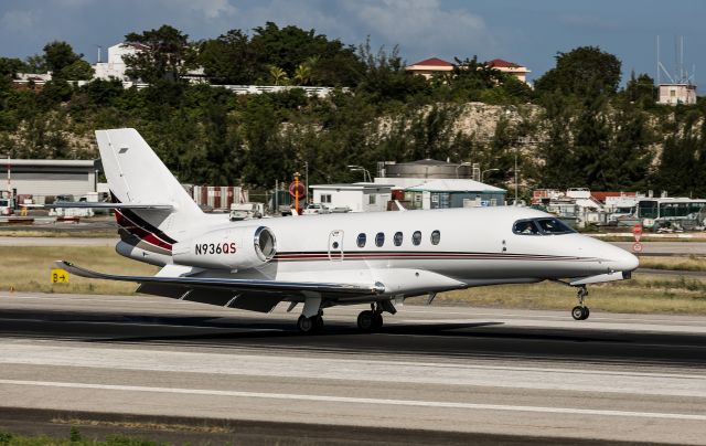
{"type": "Polygon", "coordinates": [[[374,171],[382,160],[436,158],[498,169],[484,180],[502,187],[517,155],[525,193],[589,187],[706,195],[703,105],[655,105],[645,74],[620,88],[620,61],[598,47],[558,53],[531,89],[475,57],[425,81],[405,71],[397,49],[354,47],[274,23],[201,42],[164,25],[126,41],[146,49],[126,62],[148,88],[75,86],[68,81],[93,72],[65,42],[26,61],[0,57],[0,153],[92,158],[94,129],[135,127],[183,182],[271,187],[304,162],[312,183],[355,181],[362,178],[349,164],[374,171]],[[302,89],[238,96],[185,82],[197,66],[212,84],[336,89],[325,98],[302,89]],[[54,77],[43,88],[12,85],[17,73],[46,70],[54,77]],[[463,124],[473,110],[492,116],[485,130],[463,124]]]}

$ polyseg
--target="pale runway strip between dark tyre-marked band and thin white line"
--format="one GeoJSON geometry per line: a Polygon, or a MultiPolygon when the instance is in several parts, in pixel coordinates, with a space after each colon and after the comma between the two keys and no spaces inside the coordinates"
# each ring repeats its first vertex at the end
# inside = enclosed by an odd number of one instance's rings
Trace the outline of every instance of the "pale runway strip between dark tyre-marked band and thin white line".
{"type": "Polygon", "coordinates": [[[0,344],[0,364],[77,367],[311,380],[400,382],[706,399],[706,375],[442,362],[222,354],[139,349],[0,344]]]}

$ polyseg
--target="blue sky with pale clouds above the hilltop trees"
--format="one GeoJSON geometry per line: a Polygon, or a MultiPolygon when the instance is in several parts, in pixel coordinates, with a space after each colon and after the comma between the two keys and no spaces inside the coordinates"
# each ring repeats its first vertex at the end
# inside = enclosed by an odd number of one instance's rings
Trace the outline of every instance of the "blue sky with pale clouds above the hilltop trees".
{"type": "Polygon", "coordinates": [[[702,0],[0,0],[0,56],[25,59],[58,40],[90,63],[101,46],[105,62],[106,49],[129,32],[170,24],[201,40],[271,21],[356,46],[367,36],[374,49],[399,45],[409,64],[500,57],[527,66],[531,79],[554,66],[557,52],[593,45],[622,61],[624,79],[632,71],[656,76],[659,35],[670,73],[684,36],[684,68],[698,83],[705,18],[702,0]]]}

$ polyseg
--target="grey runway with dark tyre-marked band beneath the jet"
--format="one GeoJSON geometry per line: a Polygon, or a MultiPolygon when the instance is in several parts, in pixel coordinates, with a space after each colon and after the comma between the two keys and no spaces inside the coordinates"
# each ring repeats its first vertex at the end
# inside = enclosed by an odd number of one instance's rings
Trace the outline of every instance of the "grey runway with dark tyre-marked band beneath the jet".
{"type": "Polygon", "coordinates": [[[0,294],[0,406],[279,423],[300,435],[370,427],[411,443],[704,444],[706,319],[596,311],[577,322],[570,304],[408,305],[373,334],[355,329],[361,308],[335,308],[323,334],[301,336],[296,311],[279,307],[0,294]]]}

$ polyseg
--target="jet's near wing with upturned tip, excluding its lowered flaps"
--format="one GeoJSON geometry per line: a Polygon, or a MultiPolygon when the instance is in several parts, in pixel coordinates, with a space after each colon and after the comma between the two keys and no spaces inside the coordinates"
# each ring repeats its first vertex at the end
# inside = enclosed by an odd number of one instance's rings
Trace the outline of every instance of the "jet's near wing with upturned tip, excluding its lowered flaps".
{"type": "Polygon", "coordinates": [[[284,280],[263,280],[263,279],[235,279],[223,277],[168,277],[168,276],[118,276],[113,274],[104,274],[90,269],[82,268],[69,262],[56,261],[54,265],[57,268],[66,269],[76,276],[135,282],[138,284],[162,284],[162,285],[181,285],[184,288],[212,288],[228,289],[259,293],[301,293],[313,291],[328,295],[347,295],[347,296],[374,296],[385,291],[381,284],[367,286],[365,284],[336,284],[336,283],[314,283],[314,282],[284,282],[284,280]]]}

